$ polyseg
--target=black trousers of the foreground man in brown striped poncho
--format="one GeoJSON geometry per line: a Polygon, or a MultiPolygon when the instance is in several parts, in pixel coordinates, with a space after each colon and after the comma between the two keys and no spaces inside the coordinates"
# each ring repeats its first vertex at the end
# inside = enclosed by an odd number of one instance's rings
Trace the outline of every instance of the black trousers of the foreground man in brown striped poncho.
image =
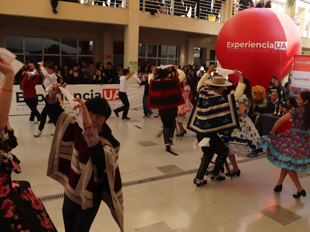
{"type": "Polygon", "coordinates": [[[64,230],[66,232],[88,232],[91,228],[102,201],[102,190],[97,191],[93,199],[93,207],[86,210],[82,206],[70,200],[64,194],[62,216],[64,218],[64,230]]]}

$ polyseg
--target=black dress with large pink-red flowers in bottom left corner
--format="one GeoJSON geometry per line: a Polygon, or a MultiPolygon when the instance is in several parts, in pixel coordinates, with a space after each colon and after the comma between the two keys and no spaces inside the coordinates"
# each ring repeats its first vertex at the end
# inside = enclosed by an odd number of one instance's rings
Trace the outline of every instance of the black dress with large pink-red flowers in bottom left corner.
{"type": "Polygon", "coordinates": [[[29,182],[11,179],[12,172],[21,173],[19,163],[10,152],[0,152],[0,231],[57,232],[29,182]]]}

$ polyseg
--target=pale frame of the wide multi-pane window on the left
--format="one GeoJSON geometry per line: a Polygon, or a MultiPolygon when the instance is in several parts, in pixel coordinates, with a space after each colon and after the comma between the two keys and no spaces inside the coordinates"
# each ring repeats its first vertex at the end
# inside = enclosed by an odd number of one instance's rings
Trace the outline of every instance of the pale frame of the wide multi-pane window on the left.
{"type": "Polygon", "coordinates": [[[24,55],[24,63],[25,63],[25,58],[26,56],[41,56],[44,59],[44,56],[60,56],[60,67],[61,67],[61,57],[62,56],[71,56],[71,57],[76,57],[77,62],[78,58],[80,57],[92,57],[94,59],[95,57],[95,41],[93,39],[74,39],[74,38],[55,38],[55,37],[29,37],[29,36],[11,36],[11,35],[4,35],[4,47],[6,48],[6,37],[19,37],[23,38],[23,53],[14,53],[15,55],[24,55]],[[26,38],[40,38],[42,39],[42,54],[25,54],[25,37],[26,38]],[[44,39],[58,39],[59,40],[59,54],[45,54],[44,53],[44,39]],[[73,39],[77,40],[77,54],[76,55],[62,55],[61,54],[61,39],[73,39]],[[93,42],[93,51],[92,55],[79,55],[79,41],[92,41],[93,42]]]}

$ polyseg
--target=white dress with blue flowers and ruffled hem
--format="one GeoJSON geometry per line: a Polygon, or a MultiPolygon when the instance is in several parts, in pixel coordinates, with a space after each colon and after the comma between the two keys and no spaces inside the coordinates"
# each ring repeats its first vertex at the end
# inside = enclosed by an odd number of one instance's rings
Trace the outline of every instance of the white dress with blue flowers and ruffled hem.
{"type": "Polygon", "coordinates": [[[241,157],[256,157],[263,154],[263,149],[257,146],[259,134],[248,116],[250,102],[246,95],[242,95],[236,102],[237,111],[239,112],[240,104],[245,104],[246,109],[240,120],[240,127],[232,130],[231,136],[219,134],[226,147],[229,148],[229,154],[237,154],[241,157]]]}

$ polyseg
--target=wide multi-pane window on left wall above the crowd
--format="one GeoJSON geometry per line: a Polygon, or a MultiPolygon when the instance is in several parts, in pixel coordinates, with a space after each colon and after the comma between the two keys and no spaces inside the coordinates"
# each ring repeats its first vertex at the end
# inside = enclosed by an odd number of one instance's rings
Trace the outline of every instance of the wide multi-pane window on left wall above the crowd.
{"type": "Polygon", "coordinates": [[[93,59],[94,41],[60,38],[5,37],[5,48],[17,55],[16,59],[25,62],[29,58],[37,66],[38,62],[47,59],[61,67],[70,62],[85,62],[93,59]]]}

